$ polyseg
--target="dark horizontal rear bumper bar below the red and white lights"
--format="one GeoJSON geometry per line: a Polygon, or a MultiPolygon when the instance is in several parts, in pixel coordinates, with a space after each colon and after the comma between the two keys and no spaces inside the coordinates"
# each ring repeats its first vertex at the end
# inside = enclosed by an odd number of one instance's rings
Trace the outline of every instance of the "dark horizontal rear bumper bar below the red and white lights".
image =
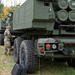
{"type": "Polygon", "coordinates": [[[53,52],[45,52],[44,54],[42,53],[37,53],[35,54],[37,55],[39,58],[53,58],[53,59],[69,59],[69,58],[75,58],[75,55],[65,55],[61,52],[58,53],[53,53],[53,52]]]}

